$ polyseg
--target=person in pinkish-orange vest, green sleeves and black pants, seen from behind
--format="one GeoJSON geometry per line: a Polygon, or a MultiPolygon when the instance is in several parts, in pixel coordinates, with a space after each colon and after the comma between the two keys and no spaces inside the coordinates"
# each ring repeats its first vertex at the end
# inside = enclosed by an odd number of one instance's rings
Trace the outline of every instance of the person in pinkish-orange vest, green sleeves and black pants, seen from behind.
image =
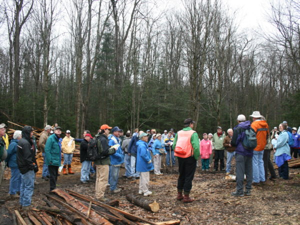
{"type": "Polygon", "coordinates": [[[196,163],[200,155],[199,136],[193,128],[194,121],[187,118],[183,121],[184,128],[178,131],[173,141],[174,155],[178,157],[179,176],[177,180],[177,200],[192,202],[189,197],[196,163]],[[184,196],[182,195],[182,191],[184,196]]]}

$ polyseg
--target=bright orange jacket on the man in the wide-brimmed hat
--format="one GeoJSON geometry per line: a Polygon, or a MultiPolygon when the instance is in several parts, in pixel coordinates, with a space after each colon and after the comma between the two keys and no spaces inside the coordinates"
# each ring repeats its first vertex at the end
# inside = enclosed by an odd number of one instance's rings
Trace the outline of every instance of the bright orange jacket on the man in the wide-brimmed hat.
{"type": "Polygon", "coordinates": [[[254,151],[262,151],[269,135],[268,125],[265,120],[257,119],[251,123],[251,127],[256,133],[257,138],[257,145],[254,151]]]}

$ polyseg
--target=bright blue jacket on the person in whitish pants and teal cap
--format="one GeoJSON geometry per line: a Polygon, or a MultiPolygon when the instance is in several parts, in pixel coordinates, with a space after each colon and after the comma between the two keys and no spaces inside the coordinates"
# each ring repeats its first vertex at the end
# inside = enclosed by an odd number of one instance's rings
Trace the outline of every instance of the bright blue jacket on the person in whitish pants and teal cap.
{"type": "Polygon", "coordinates": [[[136,155],[136,171],[147,172],[152,170],[153,164],[151,162],[151,154],[148,149],[148,143],[143,140],[138,140],[137,145],[137,155],[136,155]]]}

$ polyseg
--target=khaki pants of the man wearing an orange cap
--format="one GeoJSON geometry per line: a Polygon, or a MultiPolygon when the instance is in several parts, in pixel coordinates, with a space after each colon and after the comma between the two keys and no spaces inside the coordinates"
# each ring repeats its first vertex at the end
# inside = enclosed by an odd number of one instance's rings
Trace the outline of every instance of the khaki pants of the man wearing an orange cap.
{"type": "Polygon", "coordinates": [[[97,179],[96,179],[96,198],[102,198],[105,193],[106,184],[108,182],[109,165],[96,165],[97,179]]]}

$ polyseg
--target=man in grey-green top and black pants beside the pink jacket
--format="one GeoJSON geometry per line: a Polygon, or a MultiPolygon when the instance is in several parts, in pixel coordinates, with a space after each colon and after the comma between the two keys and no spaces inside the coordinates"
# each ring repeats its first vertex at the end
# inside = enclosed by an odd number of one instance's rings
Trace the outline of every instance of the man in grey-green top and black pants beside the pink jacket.
{"type": "Polygon", "coordinates": [[[212,146],[214,149],[214,165],[213,171],[217,171],[218,161],[220,160],[220,170],[224,171],[224,146],[223,141],[225,138],[225,132],[222,131],[222,127],[218,126],[216,133],[212,136],[212,146]]]}

